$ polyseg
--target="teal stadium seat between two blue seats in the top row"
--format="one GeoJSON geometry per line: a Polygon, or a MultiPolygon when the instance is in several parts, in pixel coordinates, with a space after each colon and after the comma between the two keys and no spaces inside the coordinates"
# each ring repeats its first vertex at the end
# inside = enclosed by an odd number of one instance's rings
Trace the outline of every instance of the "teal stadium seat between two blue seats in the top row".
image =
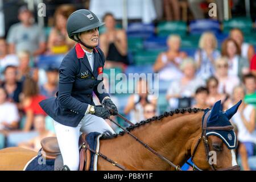
{"type": "Polygon", "coordinates": [[[168,36],[170,34],[187,35],[187,23],[182,21],[160,22],[156,28],[158,36],[168,36]]]}

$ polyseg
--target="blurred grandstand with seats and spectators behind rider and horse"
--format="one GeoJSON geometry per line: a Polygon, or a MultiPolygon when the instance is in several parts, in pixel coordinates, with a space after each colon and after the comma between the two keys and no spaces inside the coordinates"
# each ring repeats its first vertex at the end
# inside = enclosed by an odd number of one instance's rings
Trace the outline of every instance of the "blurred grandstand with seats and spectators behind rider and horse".
{"type": "MultiPolygon", "coordinates": [[[[243,100],[232,118],[238,163],[256,170],[252,0],[0,0],[0,149],[38,151],[42,138],[55,135],[52,119],[38,103],[56,96],[59,65],[75,46],[65,26],[78,9],[105,22],[99,29],[109,75],[104,81],[115,91],[111,97],[119,113],[136,123],[176,108],[205,109],[221,100],[228,109],[243,100]],[[141,92],[154,77],[128,82],[127,93],[118,93],[110,69],[158,73],[159,94],[141,92]]],[[[99,104],[95,96],[94,101],[99,104]]]]}

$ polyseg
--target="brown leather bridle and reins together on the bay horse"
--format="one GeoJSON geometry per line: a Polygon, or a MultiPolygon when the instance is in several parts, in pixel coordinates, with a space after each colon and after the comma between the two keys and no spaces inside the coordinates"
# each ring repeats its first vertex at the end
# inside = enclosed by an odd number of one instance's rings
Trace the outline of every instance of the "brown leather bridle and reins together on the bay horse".
{"type": "MultiPolygon", "coordinates": [[[[205,147],[205,155],[206,155],[206,160],[207,162],[209,161],[209,142],[208,142],[208,138],[206,135],[206,130],[232,130],[233,126],[224,126],[224,127],[207,127],[207,119],[210,115],[210,110],[207,111],[207,113],[204,114],[204,121],[202,124],[202,134],[199,137],[199,140],[197,140],[196,146],[192,152],[191,155],[191,161],[193,162],[193,156],[195,156],[195,152],[197,150],[197,147],[199,146],[199,143],[201,142],[201,140],[203,139],[203,143],[204,143],[204,147],[205,147]]],[[[128,119],[126,119],[125,117],[123,117],[121,114],[117,114],[118,117],[122,118],[125,122],[129,123],[129,125],[134,126],[134,124],[132,122],[130,122],[128,119]]],[[[168,160],[167,158],[165,158],[163,155],[160,155],[158,152],[156,152],[154,149],[152,149],[150,146],[148,146],[146,143],[142,142],[142,140],[140,140],[138,137],[136,137],[135,135],[131,134],[130,131],[126,130],[125,127],[122,127],[121,125],[119,125],[119,123],[113,121],[113,119],[108,118],[111,122],[113,122],[115,125],[117,125],[119,128],[121,128],[123,131],[125,131],[127,134],[131,135],[131,137],[133,137],[137,142],[141,143],[145,148],[147,148],[147,150],[151,151],[153,154],[155,154],[156,156],[158,156],[160,159],[164,160],[164,162],[170,164],[170,166],[174,167],[176,169],[176,171],[182,171],[180,166],[175,165],[174,163],[172,163],[170,160],[168,160]]],[[[94,151],[93,151],[94,152],[94,151]]],[[[108,159],[106,156],[95,152],[98,156],[103,157],[105,160],[108,160],[109,162],[111,162],[112,164],[114,164],[114,166],[117,166],[118,168],[126,171],[127,169],[125,167],[123,167],[121,164],[118,164],[117,162],[114,162],[111,159],[108,159]]],[[[187,164],[189,164],[189,166],[192,166],[194,170],[198,170],[198,171],[203,171],[200,168],[198,168],[195,164],[192,165],[190,163],[187,162],[187,164]]],[[[240,166],[236,165],[233,167],[229,167],[229,168],[225,168],[225,169],[216,169],[213,164],[209,164],[210,167],[213,169],[213,171],[235,171],[235,170],[240,170],[240,166]]]]}

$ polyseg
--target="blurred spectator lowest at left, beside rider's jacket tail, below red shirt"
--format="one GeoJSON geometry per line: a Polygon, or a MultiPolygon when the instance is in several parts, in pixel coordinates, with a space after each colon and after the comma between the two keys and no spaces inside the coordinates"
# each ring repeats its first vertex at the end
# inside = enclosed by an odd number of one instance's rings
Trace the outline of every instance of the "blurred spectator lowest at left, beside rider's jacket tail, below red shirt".
{"type": "Polygon", "coordinates": [[[47,137],[55,137],[51,131],[46,130],[46,117],[44,115],[36,115],[34,119],[35,131],[38,132],[38,136],[32,138],[28,142],[23,142],[19,144],[19,147],[27,148],[29,150],[34,150],[38,152],[41,146],[41,140],[47,137]]]}

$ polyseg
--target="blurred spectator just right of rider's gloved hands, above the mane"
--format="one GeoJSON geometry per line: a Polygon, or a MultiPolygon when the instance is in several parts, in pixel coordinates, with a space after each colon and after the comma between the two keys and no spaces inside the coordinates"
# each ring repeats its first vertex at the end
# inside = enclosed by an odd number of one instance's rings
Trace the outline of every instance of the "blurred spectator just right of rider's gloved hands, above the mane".
{"type": "Polygon", "coordinates": [[[124,113],[130,114],[131,122],[137,123],[144,119],[144,106],[148,103],[156,105],[157,99],[154,95],[148,94],[147,81],[140,79],[137,82],[136,93],[131,95],[128,99],[127,106],[124,113]]]}

